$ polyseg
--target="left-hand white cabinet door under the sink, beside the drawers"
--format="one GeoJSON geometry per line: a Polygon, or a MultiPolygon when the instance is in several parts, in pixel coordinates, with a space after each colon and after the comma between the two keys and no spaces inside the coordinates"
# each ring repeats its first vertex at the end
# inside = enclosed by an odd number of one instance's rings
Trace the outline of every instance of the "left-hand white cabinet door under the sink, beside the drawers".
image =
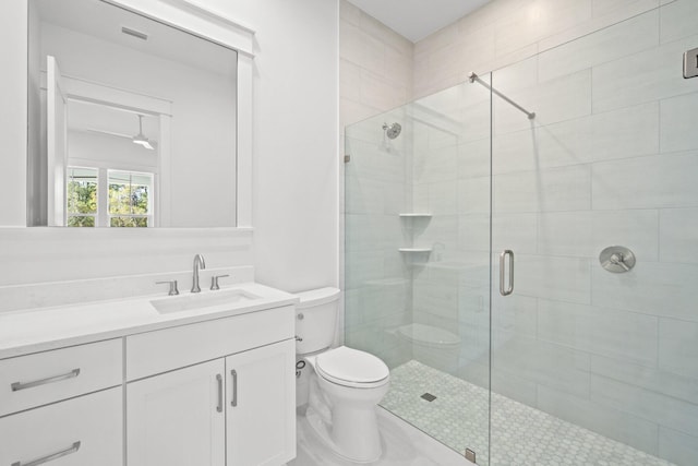
{"type": "Polygon", "coordinates": [[[210,362],[127,385],[129,466],[224,466],[225,362],[210,362]]]}

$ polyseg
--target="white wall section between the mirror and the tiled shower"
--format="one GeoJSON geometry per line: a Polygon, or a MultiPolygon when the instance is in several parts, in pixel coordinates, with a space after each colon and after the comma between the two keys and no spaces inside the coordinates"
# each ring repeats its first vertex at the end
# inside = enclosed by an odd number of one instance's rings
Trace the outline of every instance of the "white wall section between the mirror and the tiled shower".
{"type": "Polygon", "coordinates": [[[337,285],[337,14],[332,0],[216,0],[256,31],[253,224],[262,283],[337,285]]]}

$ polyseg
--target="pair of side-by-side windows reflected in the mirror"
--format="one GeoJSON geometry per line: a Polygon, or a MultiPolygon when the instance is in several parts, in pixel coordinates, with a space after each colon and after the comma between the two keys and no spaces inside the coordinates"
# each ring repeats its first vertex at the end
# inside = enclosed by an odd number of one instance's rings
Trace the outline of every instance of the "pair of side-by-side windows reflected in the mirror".
{"type": "Polygon", "coordinates": [[[68,167],[69,227],[152,227],[154,175],[68,167]]]}

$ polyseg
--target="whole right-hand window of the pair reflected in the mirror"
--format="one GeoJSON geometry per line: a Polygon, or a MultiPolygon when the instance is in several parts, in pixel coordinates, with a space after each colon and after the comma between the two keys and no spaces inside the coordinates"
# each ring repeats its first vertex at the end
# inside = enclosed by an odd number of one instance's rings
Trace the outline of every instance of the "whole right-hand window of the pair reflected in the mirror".
{"type": "Polygon", "coordinates": [[[153,175],[109,170],[109,226],[147,227],[153,223],[153,175]]]}

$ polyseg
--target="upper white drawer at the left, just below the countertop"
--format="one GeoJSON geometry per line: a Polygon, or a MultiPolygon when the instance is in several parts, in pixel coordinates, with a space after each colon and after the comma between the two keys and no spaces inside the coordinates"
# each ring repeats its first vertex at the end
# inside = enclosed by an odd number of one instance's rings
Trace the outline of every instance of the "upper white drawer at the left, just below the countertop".
{"type": "Polygon", "coordinates": [[[121,338],[0,360],[0,416],[119,385],[122,363],[121,338]]]}

